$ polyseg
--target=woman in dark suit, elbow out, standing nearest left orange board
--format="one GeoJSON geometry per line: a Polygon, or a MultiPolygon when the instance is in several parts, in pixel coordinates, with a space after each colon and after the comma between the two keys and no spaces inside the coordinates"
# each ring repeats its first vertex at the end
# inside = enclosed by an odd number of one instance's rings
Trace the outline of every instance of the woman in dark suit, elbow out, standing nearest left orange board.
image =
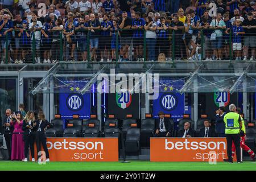
{"type": "Polygon", "coordinates": [[[46,152],[46,162],[49,162],[49,152],[46,145],[46,133],[45,131],[52,127],[51,123],[46,120],[43,111],[38,113],[38,120],[34,125],[36,131],[36,148],[38,150],[38,160],[40,161],[41,155],[39,155],[39,151],[41,151],[41,144],[44,148],[44,152],[46,152]]]}

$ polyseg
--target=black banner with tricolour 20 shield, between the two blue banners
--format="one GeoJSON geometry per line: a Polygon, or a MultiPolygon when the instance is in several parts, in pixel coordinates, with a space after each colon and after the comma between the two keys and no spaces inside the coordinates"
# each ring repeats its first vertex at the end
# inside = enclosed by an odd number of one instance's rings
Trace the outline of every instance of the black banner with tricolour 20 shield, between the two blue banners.
{"type": "Polygon", "coordinates": [[[139,94],[130,94],[127,90],[108,94],[108,114],[114,114],[119,119],[125,119],[126,114],[133,114],[133,118],[138,119],[139,94]]]}

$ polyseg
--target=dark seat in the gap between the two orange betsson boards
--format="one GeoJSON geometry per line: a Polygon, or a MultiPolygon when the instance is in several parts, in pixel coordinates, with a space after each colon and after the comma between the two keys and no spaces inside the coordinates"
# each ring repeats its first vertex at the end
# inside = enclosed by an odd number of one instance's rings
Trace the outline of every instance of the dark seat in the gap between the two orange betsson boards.
{"type": "Polygon", "coordinates": [[[141,137],[140,129],[132,128],[132,129],[127,130],[126,140],[125,140],[125,151],[126,152],[139,152],[140,137],[141,137]]]}

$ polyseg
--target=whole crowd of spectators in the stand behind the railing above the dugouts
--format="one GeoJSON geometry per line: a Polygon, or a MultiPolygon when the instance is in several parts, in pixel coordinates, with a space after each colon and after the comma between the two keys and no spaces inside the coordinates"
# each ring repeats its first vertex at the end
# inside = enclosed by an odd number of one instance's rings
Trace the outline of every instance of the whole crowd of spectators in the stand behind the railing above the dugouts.
{"type": "Polygon", "coordinates": [[[56,63],[62,53],[65,61],[88,61],[89,55],[93,61],[143,61],[144,44],[150,61],[160,54],[167,61],[255,57],[252,0],[1,0],[0,4],[2,64],[25,63],[32,56],[36,63],[56,63]]]}

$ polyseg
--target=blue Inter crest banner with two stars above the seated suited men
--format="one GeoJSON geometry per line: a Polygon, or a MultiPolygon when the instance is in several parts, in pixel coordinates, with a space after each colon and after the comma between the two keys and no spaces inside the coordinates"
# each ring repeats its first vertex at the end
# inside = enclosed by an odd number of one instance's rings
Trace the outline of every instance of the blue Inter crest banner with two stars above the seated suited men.
{"type": "Polygon", "coordinates": [[[182,118],[184,113],[189,114],[188,106],[185,105],[185,94],[178,93],[184,85],[184,80],[171,80],[162,78],[159,81],[159,96],[153,100],[153,116],[158,118],[158,112],[171,114],[171,118],[182,118]]]}

